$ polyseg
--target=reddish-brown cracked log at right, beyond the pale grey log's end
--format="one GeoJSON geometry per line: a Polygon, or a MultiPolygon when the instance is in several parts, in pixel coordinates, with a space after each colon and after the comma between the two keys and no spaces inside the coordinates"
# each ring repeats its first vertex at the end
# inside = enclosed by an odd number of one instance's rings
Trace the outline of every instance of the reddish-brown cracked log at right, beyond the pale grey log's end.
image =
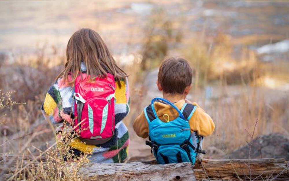
{"type": "Polygon", "coordinates": [[[208,160],[195,165],[194,174],[197,180],[289,180],[289,165],[284,158],[235,160],[208,160]],[[251,171],[250,171],[251,170],[251,171]],[[250,179],[251,178],[251,179],[250,179]]]}

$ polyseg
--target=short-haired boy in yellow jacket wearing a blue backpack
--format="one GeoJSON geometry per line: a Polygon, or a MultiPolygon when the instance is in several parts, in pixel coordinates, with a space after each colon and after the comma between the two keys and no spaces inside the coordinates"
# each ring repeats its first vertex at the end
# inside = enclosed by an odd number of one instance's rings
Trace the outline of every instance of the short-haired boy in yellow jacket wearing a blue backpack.
{"type": "Polygon", "coordinates": [[[192,88],[192,69],[184,58],[166,58],[160,65],[157,86],[163,98],[151,105],[134,121],[134,131],[149,140],[159,164],[192,162],[201,151],[203,136],[215,129],[212,118],[186,99],[192,88]]]}

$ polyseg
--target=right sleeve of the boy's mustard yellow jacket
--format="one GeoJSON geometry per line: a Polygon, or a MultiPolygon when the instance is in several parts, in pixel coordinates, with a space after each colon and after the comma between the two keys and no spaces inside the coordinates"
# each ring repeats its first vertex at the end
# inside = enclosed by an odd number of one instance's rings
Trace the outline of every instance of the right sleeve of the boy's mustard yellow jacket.
{"type": "Polygon", "coordinates": [[[199,107],[197,103],[193,103],[197,106],[194,114],[189,120],[191,131],[197,131],[200,136],[209,136],[215,130],[215,124],[209,114],[199,107]]]}

